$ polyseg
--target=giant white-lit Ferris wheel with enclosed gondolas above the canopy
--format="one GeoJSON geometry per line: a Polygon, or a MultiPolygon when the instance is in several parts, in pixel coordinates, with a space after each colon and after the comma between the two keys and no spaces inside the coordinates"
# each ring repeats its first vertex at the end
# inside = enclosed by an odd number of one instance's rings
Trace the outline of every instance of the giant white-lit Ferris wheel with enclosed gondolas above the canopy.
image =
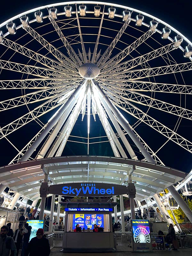
{"type": "Polygon", "coordinates": [[[14,152],[10,163],[61,156],[67,144],[93,154],[101,142],[145,161],[126,126],[158,164],[169,147],[192,152],[183,128],[192,45],[164,21],[118,4],[64,2],[5,21],[0,44],[0,143],[14,152]],[[104,135],[93,136],[93,121],[104,135]]]}

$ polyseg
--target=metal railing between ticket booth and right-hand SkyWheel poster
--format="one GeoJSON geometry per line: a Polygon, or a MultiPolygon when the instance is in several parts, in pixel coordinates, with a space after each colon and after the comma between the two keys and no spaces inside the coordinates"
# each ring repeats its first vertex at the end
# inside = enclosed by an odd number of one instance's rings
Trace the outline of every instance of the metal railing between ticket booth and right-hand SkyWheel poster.
{"type": "Polygon", "coordinates": [[[132,251],[131,232],[117,232],[113,237],[116,251],[132,251]]]}

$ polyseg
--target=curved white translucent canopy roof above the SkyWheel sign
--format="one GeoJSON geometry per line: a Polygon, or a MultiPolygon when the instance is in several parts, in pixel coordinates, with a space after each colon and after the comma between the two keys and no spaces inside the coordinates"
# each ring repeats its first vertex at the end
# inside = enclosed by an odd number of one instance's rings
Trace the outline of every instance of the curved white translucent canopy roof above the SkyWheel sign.
{"type": "MultiPolygon", "coordinates": [[[[0,167],[0,183],[35,200],[40,198],[40,180],[49,173],[52,184],[101,182],[123,184],[132,172],[136,199],[144,200],[186,176],[170,167],[133,159],[106,156],[62,156],[0,167]]],[[[126,183],[125,183],[126,185],[126,183]]]]}

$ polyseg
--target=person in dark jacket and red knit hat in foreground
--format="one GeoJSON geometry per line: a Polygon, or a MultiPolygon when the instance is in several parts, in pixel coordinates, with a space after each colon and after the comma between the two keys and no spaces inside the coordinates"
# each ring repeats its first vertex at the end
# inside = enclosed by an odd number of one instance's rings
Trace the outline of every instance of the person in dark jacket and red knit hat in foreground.
{"type": "Polygon", "coordinates": [[[44,237],[43,228],[39,228],[36,232],[36,237],[33,237],[28,244],[26,256],[43,255],[49,256],[51,250],[49,240],[44,237]]]}

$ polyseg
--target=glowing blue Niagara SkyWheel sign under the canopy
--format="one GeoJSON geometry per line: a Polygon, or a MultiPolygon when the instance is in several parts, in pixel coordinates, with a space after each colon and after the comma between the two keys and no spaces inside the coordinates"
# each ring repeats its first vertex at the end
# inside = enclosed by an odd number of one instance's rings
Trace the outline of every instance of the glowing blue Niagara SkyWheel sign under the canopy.
{"type": "Polygon", "coordinates": [[[105,183],[67,183],[49,186],[49,194],[65,196],[115,196],[127,194],[127,186],[105,183]]]}

